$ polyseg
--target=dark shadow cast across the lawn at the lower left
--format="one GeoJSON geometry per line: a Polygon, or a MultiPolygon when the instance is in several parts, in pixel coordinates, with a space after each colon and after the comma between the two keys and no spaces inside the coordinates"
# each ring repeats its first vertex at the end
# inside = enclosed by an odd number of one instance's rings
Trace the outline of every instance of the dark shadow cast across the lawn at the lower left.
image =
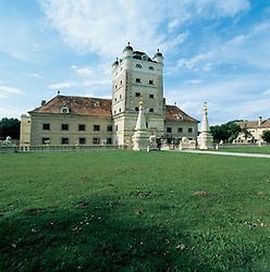
{"type": "Polygon", "coordinates": [[[91,199],[2,218],[0,271],[221,271],[193,237],[115,218],[118,205],[91,199]]]}

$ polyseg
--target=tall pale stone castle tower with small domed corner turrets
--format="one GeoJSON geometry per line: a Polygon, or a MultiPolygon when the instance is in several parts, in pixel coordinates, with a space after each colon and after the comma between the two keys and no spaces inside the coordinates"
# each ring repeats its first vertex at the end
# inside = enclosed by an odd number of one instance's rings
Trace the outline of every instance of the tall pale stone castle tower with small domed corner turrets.
{"type": "Polygon", "coordinates": [[[159,50],[149,58],[128,45],[112,64],[112,118],[115,145],[127,145],[136,126],[139,101],[144,101],[150,134],[163,135],[163,57],[159,50]]]}

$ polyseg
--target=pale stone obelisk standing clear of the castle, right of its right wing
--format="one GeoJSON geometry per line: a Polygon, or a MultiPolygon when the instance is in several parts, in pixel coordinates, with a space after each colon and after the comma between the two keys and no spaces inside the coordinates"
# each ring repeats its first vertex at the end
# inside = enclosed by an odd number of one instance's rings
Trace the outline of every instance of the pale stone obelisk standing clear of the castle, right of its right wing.
{"type": "Polygon", "coordinates": [[[209,149],[209,148],[213,148],[212,146],[212,134],[210,132],[210,127],[209,127],[209,122],[208,122],[208,118],[207,118],[207,103],[205,102],[204,104],[204,110],[202,110],[202,121],[201,121],[201,125],[200,125],[200,134],[197,138],[198,141],[198,148],[199,149],[209,149]]]}

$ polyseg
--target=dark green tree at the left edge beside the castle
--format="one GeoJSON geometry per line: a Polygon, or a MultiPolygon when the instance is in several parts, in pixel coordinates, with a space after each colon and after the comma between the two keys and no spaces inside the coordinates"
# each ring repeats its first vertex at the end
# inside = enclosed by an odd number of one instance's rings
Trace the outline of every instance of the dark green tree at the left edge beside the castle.
{"type": "Polygon", "coordinates": [[[12,139],[20,139],[20,124],[17,119],[3,118],[0,121],[0,138],[5,139],[10,136],[12,139]]]}

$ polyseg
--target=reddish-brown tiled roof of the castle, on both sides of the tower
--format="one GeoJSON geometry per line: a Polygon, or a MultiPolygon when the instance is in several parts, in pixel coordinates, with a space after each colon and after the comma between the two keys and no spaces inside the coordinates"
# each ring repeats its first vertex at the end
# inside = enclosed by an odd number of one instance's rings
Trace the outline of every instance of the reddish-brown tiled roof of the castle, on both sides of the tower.
{"type": "MultiPolygon", "coordinates": [[[[112,116],[111,99],[73,96],[56,96],[44,106],[29,111],[29,113],[61,113],[63,107],[70,109],[70,114],[105,118],[112,116]]],[[[165,106],[165,120],[198,122],[196,119],[180,110],[176,106],[169,104],[165,106]]]]}

